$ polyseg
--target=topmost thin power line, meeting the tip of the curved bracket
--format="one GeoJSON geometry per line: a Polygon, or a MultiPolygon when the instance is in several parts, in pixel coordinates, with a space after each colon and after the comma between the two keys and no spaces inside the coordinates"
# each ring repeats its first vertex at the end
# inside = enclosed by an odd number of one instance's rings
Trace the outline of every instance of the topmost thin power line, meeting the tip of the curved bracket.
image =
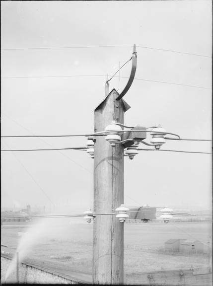
{"type": "MultiPolygon", "coordinates": [[[[1,50],[2,51],[13,51],[13,50],[49,50],[49,49],[81,49],[81,48],[111,48],[111,47],[114,48],[114,47],[133,47],[133,46],[132,45],[105,45],[105,46],[68,46],[68,47],[29,47],[29,48],[3,48],[1,50]]],[[[212,58],[211,56],[180,52],[180,51],[175,51],[175,50],[152,48],[152,47],[146,47],[146,46],[136,46],[136,47],[142,48],[142,49],[157,50],[157,51],[172,52],[172,53],[178,53],[178,54],[184,54],[184,55],[212,58]]]]}

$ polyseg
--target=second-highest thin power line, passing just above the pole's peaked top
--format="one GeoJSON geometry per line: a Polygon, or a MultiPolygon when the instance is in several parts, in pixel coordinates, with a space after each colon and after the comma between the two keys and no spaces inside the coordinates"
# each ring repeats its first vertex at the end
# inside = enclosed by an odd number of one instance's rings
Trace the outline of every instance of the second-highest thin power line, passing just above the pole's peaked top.
{"type": "MultiPolygon", "coordinates": [[[[81,76],[104,76],[105,74],[83,74],[83,75],[41,75],[41,76],[3,76],[1,78],[3,79],[12,79],[12,78],[55,78],[55,77],[81,77],[81,76]]],[[[117,76],[120,78],[129,78],[128,76],[117,76]]],[[[142,81],[148,81],[148,82],[157,82],[157,83],[166,83],[166,84],[173,84],[173,85],[180,85],[180,86],[188,86],[188,87],[196,87],[196,88],[203,88],[203,89],[211,89],[210,87],[203,87],[203,86],[197,86],[197,85],[189,85],[189,84],[183,84],[183,83],[174,83],[174,82],[168,82],[168,81],[160,81],[160,80],[152,80],[152,79],[144,79],[144,78],[134,78],[136,80],[142,80],[142,81]]]]}

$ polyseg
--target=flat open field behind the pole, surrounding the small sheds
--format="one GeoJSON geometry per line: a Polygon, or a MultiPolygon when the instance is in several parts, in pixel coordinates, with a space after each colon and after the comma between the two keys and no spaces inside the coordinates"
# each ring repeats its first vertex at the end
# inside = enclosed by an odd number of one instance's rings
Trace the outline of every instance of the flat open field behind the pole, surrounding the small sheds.
{"type": "MultiPolygon", "coordinates": [[[[126,223],[124,233],[126,274],[204,267],[210,263],[211,222],[126,223]],[[168,254],[164,242],[170,238],[199,240],[204,243],[205,253],[168,254]]],[[[91,281],[92,235],[93,224],[73,218],[48,218],[25,225],[3,225],[1,245],[8,248],[1,249],[14,253],[19,244],[19,256],[23,255],[24,262],[91,281]],[[21,237],[23,232],[27,232],[25,238],[21,237]]]]}

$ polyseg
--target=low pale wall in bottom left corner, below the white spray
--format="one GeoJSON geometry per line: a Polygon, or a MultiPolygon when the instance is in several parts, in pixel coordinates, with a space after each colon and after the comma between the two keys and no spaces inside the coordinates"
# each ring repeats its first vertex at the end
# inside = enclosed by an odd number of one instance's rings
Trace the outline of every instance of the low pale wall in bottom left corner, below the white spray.
{"type": "MultiPolygon", "coordinates": [[[[1,283],[17,283],[16,270],[5,281],[6,271],[10,263],[11,259],[1,255],[1,283]]],[[[24,263],[19,264],[18,273],[19,284],[86,284],[83,281],[68,279],[24,263]]]]}

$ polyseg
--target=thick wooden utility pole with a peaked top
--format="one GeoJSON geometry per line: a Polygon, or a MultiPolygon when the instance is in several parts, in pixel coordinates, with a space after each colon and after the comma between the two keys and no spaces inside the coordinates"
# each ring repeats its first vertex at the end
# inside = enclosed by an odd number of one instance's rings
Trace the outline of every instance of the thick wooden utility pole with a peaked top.
{"type": "MultiPolygon", "coordinates": [[[[130,106],[113,89],[95,109],[95,132],[113,120],[124,123],[130,106]]],[[[94,144],[94,213],[114,213],[124,203],[124,147],[104,136],[94,144]]],[[[124,283],[124,224],[112,214],[97,215],[93,230],[93,284],[124,283]]]]}

